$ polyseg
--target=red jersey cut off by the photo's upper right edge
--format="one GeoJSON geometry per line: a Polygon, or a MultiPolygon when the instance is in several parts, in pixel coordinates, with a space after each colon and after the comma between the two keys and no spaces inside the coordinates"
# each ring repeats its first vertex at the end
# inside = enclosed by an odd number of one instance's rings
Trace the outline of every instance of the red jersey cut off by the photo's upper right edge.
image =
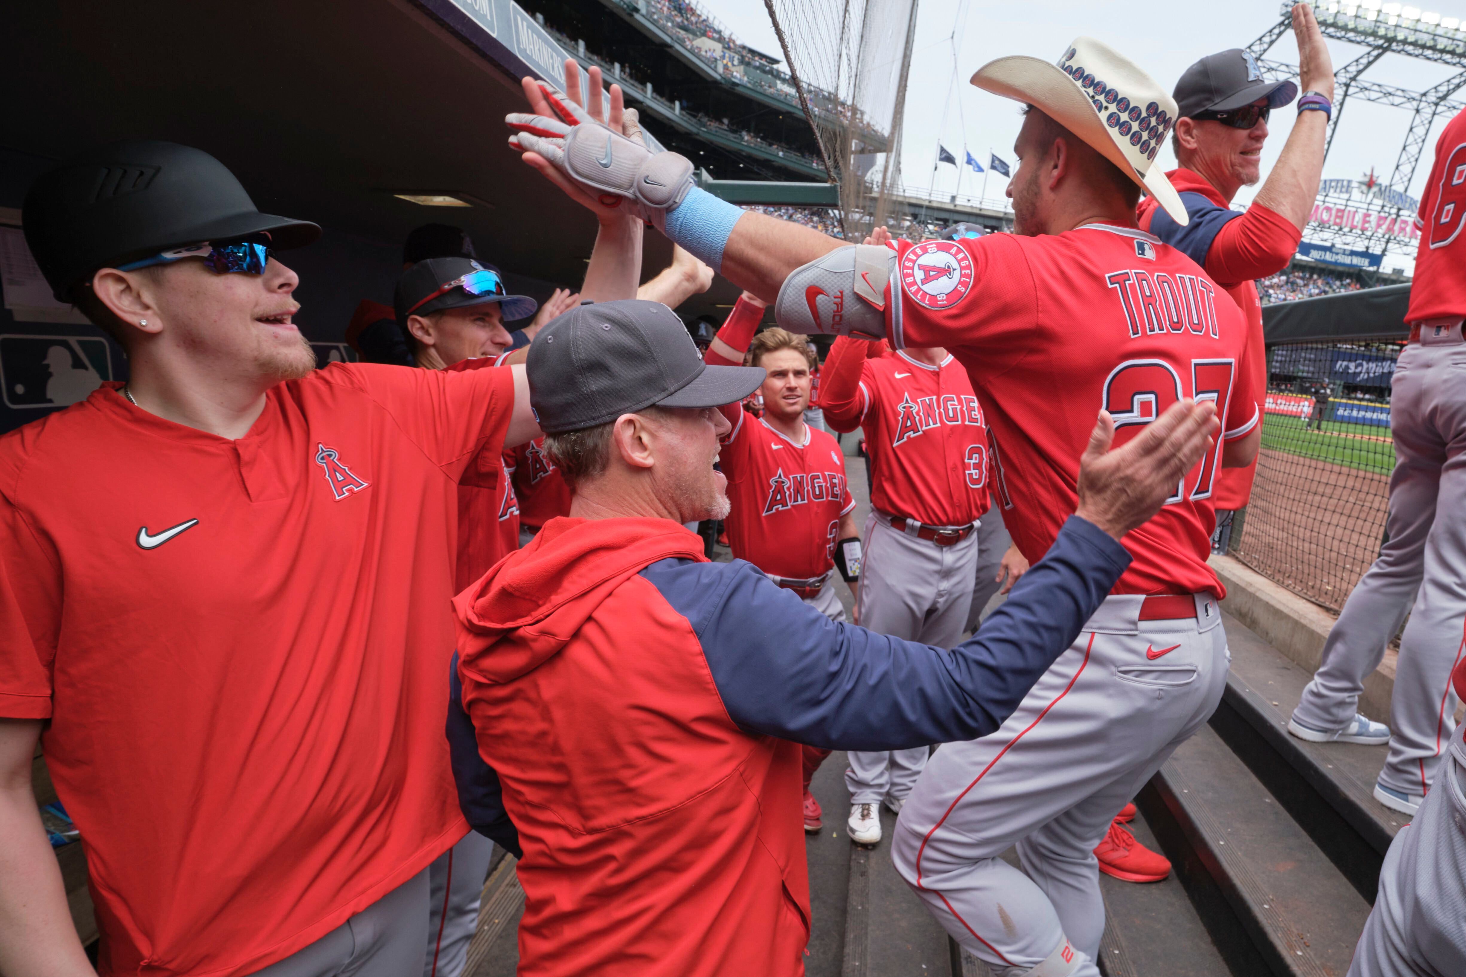
{"type": "Polygon", "coordinates": [[[1435,164],[1421,195],[1421,246],[1406,322],[1466,316],[1466,110],[1435,142],[1435,164]]]}

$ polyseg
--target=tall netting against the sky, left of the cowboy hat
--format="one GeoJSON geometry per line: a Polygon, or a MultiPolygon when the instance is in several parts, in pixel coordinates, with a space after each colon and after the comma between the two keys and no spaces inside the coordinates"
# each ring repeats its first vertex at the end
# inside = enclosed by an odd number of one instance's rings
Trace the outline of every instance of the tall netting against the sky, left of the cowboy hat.
{"type": "Polygon", "coordinates": [[[846,240],[885,223],[900,186],[916,0],[764,0],[784,63],[840,187],[846,240]]]}

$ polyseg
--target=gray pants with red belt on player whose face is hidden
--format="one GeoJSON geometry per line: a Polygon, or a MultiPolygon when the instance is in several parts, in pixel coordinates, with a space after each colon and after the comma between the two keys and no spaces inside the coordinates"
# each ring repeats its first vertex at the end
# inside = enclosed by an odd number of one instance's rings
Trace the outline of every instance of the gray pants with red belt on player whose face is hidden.
{"type": "MultiPolygon", "coordinates": [[[[861,627],[881,634],[954,647],[972,605],[978,535],[938,546],[899,529],[891,517],[871,510],[865,523],[861,562],[861,627]]],[[[844,785],[852,804],[905,800],[927,765],[927,747],[846,754],[844,785]]]]}

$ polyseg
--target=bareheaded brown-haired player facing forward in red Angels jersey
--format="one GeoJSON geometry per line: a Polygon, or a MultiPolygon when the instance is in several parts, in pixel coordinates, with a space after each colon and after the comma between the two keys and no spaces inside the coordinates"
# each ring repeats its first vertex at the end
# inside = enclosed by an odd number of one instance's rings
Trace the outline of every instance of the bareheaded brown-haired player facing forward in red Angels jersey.
{"type": "MultiPolygon", "coordinates": [[[[723,407],[733,425],[718,453],[727,478],[732,510],[727,536],[733,555],[746,560],[778,586],[793,590],[833,621],[844,621],[844,606],[831,576],[839,567],[859,598],[861,538],[855,498],[844,475],[840,444],[805,422],[815,353],[802,335],[784,330],[754,331],[764,305],[742,296],[708,347],[705,359],[718,366],[762,366],[761,416],[742,404],[723,407]]],[[[803,747],[805,831],[817,832],[824,813],[809,792],[809,781],[830,750],[803,747]]]]}

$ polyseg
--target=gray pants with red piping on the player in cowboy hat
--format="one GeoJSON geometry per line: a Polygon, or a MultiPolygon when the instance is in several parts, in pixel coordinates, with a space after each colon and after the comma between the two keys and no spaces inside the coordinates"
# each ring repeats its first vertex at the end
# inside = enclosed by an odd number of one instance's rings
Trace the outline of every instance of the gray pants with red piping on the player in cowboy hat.
{"type": "Polygon", "coordinates": [[[1141,602],[1107,598],[997,732],[937,750],[896,822],[897,872],[995,977],[1100,976],[1095,845],[1221,699],[1217,601],[1141,602]],[[1026,874],[998,857],[1014,842],[1026,874]]]}

